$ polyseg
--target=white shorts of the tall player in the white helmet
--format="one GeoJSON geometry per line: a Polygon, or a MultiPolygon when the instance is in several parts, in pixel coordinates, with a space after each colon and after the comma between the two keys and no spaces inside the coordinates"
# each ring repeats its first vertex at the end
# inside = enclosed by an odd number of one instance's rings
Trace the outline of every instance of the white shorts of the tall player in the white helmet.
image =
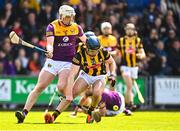
{"type": "Polygon", "coordinates": [[[47,59],[43,70],[48,71],[52,73],[53,75],[59,74],[64,69],[70,69],[71,68],[71,62],[65,62],[65,61],[55,61],[52,59],[47,59]]]}

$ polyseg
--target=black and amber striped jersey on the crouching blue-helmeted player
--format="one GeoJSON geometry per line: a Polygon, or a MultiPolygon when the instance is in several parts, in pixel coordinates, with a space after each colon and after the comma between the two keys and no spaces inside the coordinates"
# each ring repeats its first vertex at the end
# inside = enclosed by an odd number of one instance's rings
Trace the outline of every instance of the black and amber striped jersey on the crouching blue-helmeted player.
{"type": "Polygon", "coordinates": [[[106,74],[105,62],[109,57],[109,52],[102,48],[99,49],[99,53],[95,57],[90,57],[86,52],[86,48],[82,47],[74,56],[72,63],[79,65],[88,75],[98,76],[106,74]]]}

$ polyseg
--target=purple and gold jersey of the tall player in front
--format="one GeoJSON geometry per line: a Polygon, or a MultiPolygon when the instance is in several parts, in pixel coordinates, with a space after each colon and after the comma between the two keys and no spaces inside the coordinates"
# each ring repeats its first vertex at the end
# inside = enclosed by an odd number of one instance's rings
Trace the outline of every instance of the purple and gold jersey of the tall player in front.
{"type": "Polygon", "coordinates": [[[54,36],[53,60],[71,62],[76,53],[77,37],[83,36],[82,28],[72,23],[64,26],[59,20],[50,23],[46,29],[46,37],[54,36]]]}

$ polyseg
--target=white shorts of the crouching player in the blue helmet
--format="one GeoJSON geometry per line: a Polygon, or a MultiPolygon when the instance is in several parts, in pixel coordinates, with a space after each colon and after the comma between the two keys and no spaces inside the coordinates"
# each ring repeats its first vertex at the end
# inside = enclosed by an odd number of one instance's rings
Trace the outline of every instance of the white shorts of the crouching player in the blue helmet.
{"type": "Polygon", "coordinates": [[[97,80],[102,80],[106,82],[106,75],[90,76],[87,73],[85,73],[83,70],[79,72],[78,78],[84,79],[88,85],[92,85],[97,80]]]}

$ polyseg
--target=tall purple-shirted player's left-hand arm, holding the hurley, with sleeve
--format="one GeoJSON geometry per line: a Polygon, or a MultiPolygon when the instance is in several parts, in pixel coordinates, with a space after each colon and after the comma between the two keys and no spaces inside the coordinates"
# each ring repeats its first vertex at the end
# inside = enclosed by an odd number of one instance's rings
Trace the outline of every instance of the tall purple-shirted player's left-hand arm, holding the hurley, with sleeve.
{"type": "Polygon", "coordinates": [[[49,24],[47,29],[46,29],[46,38],[47,38],[47,45],[46,45],[46,50],[48,53],[46,53],[46,56],[48,58],[53,57],[53,43],[54,43],[54,27],[49,24]]]}

